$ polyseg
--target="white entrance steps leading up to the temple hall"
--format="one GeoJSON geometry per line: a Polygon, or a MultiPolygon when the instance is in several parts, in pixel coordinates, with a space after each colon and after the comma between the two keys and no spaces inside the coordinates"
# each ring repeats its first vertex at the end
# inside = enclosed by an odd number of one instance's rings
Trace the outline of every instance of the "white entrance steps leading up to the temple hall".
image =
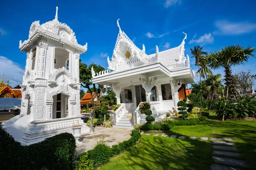
{"type": "Polygon", "coordinates": [[[131,112],[125,113],[116,122],[116,125],[113,125],[113,128],[133,129],[133,126],[131,125],[131,119],[131,112]]]}

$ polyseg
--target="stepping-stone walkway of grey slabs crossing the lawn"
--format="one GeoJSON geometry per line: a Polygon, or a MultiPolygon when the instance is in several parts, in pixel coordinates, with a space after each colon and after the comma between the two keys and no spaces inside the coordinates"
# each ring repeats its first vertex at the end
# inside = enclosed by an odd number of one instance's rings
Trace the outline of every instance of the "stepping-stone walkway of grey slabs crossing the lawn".
{"type": "MultiPolygon", "coordinates": [[[[150,135],[150,134],[146,134],[150,135]]],[[[159,136],[160,134],[154,134],[159,136]]],[[[167,134],[162,134],[162,137],[168,137],[167,134]]],[[[186,136],[171,135],[170,138],[186,139],[186,136]]],[[[195,140],[196,137],[189,137],[189,139],[195,140]]],[[[201,137],[200,140],[208,141],[208,137],[201,137]]],[[[244,160],[241,158],[241,154],[237,153],[237,148],[234,146],[233,139],[231,138],[210,138],[212,143],[212,159],[218,164],[212,164],[211,170],[241,170],[236,167],[247,167],[244,160]],[[223,164],[223,165],[220,165],[223,164]]]]}

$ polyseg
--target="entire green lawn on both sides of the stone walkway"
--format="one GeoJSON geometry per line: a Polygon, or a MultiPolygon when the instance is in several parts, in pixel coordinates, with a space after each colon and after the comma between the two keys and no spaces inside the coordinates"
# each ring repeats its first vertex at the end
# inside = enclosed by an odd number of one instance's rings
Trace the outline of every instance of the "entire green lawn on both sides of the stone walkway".
{"type": "MultiPolygon", "coordinates": [[[[256,167],[256,122],[219,121],[214,113],[209,119],[194,126],[175,126],[168,135],[226,137],[234,143],[250,169],[256,167]]],[[[114,156],[102,170],[207,170],[212,164],[209,141],[170,139],[142,135],[134,147],[114,156]]]]}

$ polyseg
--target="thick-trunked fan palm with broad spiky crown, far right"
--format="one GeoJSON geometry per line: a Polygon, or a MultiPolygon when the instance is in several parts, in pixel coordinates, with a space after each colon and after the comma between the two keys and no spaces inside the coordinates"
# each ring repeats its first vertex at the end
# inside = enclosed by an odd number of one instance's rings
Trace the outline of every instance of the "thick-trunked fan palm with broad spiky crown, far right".
{"type": "Polygon", "coordinates": [[[249,57],[254,57],[255,48],[248,46],[230,45],[221,48],[219,51],[211,52],[207,55],[207,61],[211,68],[218,69],[223,67],[225,70],[225,88],[227,92],[226,99],[236,99],[236,91],[234,90],[233,75],[231,67],[239,64],[244,64],[249,60],[249,57]]]}

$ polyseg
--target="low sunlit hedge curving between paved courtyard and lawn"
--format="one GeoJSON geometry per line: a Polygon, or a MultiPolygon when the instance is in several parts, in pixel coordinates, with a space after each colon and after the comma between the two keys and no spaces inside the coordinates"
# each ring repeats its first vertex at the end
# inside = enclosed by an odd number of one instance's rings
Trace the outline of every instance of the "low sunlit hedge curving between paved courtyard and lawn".
{"type": "Polygon", "coordinates": [[[109,147],[107,144],[101,141],[98,142],[92,150],[81,153],[81,155],[79,155],[75,170],[94,170],[94,168],[108,163],[110,157],[117,155],[127,147],[131,147],[136,144],[140,138],[140,132],[138,130],[132,130],[131,133],[132,136],[127,141],[114,144],[112,147],[109,147]]]}

